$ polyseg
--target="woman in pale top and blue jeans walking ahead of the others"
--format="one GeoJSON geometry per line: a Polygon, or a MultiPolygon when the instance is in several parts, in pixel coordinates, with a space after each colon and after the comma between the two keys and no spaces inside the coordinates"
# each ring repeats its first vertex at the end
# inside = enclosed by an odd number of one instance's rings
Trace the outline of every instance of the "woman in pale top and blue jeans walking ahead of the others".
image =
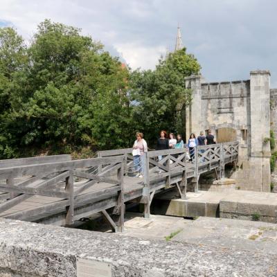
{"type": "Polygon", "coordinates": [[[143,139],[143,133],[136,133],[136,141],[133,145],[134,169],[136,177],[142,178],[144,172],[144,153],[148,152],[148,145],[143,139]]]}

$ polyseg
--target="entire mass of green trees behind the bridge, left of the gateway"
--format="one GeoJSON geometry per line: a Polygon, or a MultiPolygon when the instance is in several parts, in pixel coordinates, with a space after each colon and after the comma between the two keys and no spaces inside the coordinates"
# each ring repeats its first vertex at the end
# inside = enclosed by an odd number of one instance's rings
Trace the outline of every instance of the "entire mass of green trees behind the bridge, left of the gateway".
{"type": "MultiPolygon", "coordinates": [[[[186,49],[154,71],[130,71],[81,30],[46,19],[30,44],[0,28],[0,159],[129,147],[134,132],[154,141],[179,131],[200,66],[186,49]]],[[[78,154],[80,153],[80,154],[78,154]]]]}

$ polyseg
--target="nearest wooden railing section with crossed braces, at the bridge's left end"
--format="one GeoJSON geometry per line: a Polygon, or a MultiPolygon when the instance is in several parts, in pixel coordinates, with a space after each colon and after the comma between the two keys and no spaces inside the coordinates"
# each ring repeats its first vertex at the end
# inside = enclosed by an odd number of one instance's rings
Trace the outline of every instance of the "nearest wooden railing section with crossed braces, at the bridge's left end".
{"type": "MultiPolygon", "coordinates": [[[[60,198],[60,201],[33,208],[31,211],[13,213],[9,218],[16,220],[65,208],[65,223],[73,224],[74,207],[81,206],[91,201],[91,199],[118,195],[117,205],[114,208],[118,220],[117,224],[113,226],[114,229],[120,231],[124,224],[124,160],[125,157],[105,157],[0,168],[0,179],[7,180],[6,184],[0,184],[0,191],[14,193],[7,202],[0,204],[0,213],[24,202],[33,195],[57,197],[60,198]],[[92,167],[100,165],[105,165],[105,170],[97,174],[89,173],[92,167]],[[113,172],[112,177],[106,176],[109,172],[113,172]],[[17,184],[15,184],[15,181],[8,181],[19,177],[21,179],[25,177],[24,181],[17,184]],[[78,187],[74,186],[74,178],[82,178],[82,183],[78,187]],[[108,183],[112,186],[98,190],[88,190],[99,182],[102,184],[108,183]]],[[[107,217],[107,220],[111,220],[106,211],[102,211],[102,213],[107,217]]]]}

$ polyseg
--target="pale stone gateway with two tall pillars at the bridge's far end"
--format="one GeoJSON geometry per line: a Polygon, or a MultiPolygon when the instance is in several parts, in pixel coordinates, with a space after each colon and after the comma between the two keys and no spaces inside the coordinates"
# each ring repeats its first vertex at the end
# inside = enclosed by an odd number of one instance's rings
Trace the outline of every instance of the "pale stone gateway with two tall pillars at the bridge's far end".
{"type": "Polygon", "coordinates": [[[238,186],[270,191],[270,127],[277,134],[277,91],[269,91],[270,73],[250,72],[249,80],[201,83],[186,78],[193,101],[186,110],[186,137],[211,129],[218,142],[239,141],[238,186]]]}

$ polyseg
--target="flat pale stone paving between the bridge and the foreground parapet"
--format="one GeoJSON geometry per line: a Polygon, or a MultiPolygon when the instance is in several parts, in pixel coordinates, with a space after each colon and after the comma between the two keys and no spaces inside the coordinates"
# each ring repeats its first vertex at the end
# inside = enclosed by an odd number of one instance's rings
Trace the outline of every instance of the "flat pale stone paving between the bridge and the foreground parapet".
{"type": "Polygon", "coordinates": [[[151,215],[145,220],[137,214],[125,223],[124,236],[210,245],[229,249],[277,253],[277,225],[249,220],[229,220],[199,217],[184,220],[179,217],[151,215]]]}

